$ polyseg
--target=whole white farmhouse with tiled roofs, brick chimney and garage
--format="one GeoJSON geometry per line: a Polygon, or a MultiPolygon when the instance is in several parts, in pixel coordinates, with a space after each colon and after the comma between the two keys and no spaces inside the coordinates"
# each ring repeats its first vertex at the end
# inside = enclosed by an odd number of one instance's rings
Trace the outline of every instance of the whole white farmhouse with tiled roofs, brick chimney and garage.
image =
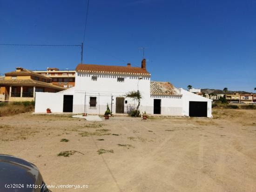
{"type": "Polygon", "coordinates": [[[141,67],[79,64],[74,87],[59,93],[36,93],[35,112],[104,114],[129,113],[137,106],[126,98],[131,91],[142,95],[140,111],[147,114],[212,117],[212,100],[177,89],[169,82],[150,80],[146,60],[141,67]]]}

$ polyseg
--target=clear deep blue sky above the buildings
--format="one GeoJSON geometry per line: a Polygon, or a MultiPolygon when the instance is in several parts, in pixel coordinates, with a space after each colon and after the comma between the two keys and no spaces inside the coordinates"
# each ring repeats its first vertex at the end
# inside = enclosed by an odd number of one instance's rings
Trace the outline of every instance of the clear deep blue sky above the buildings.
{"type": "MultiPolygon", "coordinates": [[[[81,44],[87,0],[0,0],[0,43],[81,44]]],[[[253,91],[256,0],[90,0],[84,62],[140,66],[176,87],[253,91]]],[[[16,66],[74,69],[80,47],[0,46],[16,66]]]]}

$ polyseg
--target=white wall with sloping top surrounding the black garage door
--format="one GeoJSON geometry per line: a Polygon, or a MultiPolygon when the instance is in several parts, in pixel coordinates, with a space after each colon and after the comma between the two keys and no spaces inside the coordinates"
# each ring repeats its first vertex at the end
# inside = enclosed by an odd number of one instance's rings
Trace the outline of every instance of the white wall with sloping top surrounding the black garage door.
{"type": "Polygon", "coordinates": [[[195,93],[190,93],[182,88],[179,89],[182,94],[182,114],[189,116],[189,101],[206,101],[207,102],[207,117],[212,117],[212,100],[199,96],[195,93]]]}

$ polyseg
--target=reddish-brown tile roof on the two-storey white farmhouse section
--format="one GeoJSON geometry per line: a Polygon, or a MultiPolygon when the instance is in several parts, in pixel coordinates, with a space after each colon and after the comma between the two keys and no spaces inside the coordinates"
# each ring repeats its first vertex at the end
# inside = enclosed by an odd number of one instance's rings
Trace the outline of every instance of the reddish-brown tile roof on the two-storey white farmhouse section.
{"type": "Polygon", "coordinates": [[[146,69],[132,66],[104,66],[92,64],[79,64],[76,66],[77,72],[91,72],[91,73],[116,73],[116,74],[140,74],[150,75],[146,69]]]}

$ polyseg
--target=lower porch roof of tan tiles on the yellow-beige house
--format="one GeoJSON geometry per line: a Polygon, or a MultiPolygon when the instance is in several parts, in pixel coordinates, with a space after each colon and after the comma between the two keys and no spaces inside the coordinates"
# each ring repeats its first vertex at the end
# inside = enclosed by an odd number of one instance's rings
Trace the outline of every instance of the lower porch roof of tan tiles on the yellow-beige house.
{"type": "Polygon", "coordinates": [[[65,90],[63,86],[56,86],[51,83],[45,83],[42,81],[37,81],[34,79],[4,79],[0,81],[0,85],[5,86],[5,85],[16,85],[16,86],[43,86],[43,87],[50,87],[54,89],[59,89],[59,90],[65,90]]]}

